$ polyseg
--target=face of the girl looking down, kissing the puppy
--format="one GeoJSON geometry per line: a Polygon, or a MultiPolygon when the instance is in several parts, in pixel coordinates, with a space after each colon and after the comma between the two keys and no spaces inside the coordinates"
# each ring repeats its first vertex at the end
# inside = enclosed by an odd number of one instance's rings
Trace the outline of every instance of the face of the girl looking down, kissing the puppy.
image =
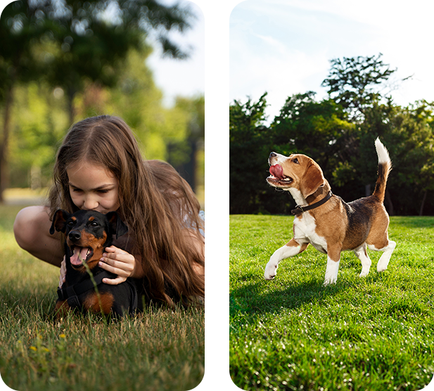
{"type": "Polygon", "coordinates": [[[66,172],[75,206],[101,213],[120,207],[119,181],[106,167],[84,161],[70,165],[66,172]]]}

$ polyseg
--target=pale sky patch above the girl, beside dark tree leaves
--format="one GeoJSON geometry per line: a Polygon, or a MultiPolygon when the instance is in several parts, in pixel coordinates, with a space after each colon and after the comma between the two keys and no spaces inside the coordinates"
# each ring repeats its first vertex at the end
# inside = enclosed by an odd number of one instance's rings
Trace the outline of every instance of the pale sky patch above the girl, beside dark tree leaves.
{"type": "MultiPolygon", "coordinates": [[[[177,1],[160,1],[173,5],[177,1]]],[[[155,84],[162,90],[163,104],[170,107],[177,96],[205,95],[205,0],[181,0],[181,6],[190,6],[196,19],[192,28],[183,34],[172,32],[170,37],[181,48],[188,49],[190,56],[186,60],[162,58],[161,51],[155,47],[146,60],[146,65],[153,71],[155,84]]]]}

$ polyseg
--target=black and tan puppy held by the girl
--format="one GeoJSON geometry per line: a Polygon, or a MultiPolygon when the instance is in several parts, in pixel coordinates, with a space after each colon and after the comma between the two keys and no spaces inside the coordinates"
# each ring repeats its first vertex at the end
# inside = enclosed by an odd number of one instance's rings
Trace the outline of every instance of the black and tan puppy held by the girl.
{"type": "Polygon", "coordinates": [[[62,316],[69,309],[96,314],[103,312],[115,317],[134,314],[140,304],[134,282],[127,278],[115,286],[102,283],[103,278],[115,278],[115,275],[98,267],[106,247],[113,243],[113,236],[118,238],[128,231],[117,213],[79,210],[70,214],[57,210],[51,224],[51,235],[55,229],[66,236],[66,277],[62,288],[58,288],[56,314],[62,316]]]}

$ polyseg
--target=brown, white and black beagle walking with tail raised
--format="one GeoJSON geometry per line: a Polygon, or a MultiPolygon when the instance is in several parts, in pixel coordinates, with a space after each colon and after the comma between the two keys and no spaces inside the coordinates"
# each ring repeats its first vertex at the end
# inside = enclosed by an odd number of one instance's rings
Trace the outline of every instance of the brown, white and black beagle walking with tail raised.
{"type": "Polygon", "coordinates": [[[300,154],[286,157],[270,153],[271,175],[267,178],[268,183],[289,191],[298,206],[292,211],[295,214],[293,238],[274,252],[265,267],[265,279],[274,278],[279,262],[300,254],[309,243],[327,254],[324,286],[336,283],[340,252],[343,250],[354,251],[360,259],[361,277],[366,276],[371,267],[366,247],[383,251],[377,271],[387,269],[396,245],[388,239],[389,216],[383,205],[392,162],[388,150],[379,139],[376,139],[375,146],[378,178],[374,193],[352,203],[345,203],[342,198],[331,193],[331,187],[324,179],[321,168],[311,158],[300,154]]]}

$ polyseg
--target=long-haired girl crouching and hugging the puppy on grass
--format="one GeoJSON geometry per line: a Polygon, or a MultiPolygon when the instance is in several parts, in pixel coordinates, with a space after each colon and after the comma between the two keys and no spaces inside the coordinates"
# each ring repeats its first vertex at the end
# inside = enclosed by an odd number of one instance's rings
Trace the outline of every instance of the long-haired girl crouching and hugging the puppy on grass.
{"type": "MultiPolygon", "coordinates": [[[[129,234],[106,248],[104,283],[140,278],[154,302],[205,300],[205,224],[189,184],[165,162],[143,160],[127,124],[101,115],[74,124],[58,150],[46,207],[26,207],[14,224],[20,247],[60,266],[62,238],[49,227],[58,209],[117,211],[129,234]],[[124,249],[124,250],[121,250],[124,249]]],[[[60,283],[64,281],[64,261],[60,283]]]]}

